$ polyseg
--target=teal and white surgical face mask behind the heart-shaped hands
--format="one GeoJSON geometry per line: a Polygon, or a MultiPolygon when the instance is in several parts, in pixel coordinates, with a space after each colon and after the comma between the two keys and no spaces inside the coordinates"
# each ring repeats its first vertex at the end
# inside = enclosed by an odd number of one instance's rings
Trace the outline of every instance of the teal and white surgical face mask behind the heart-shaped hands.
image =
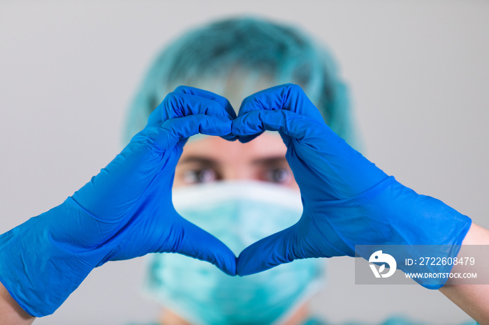
{"type": "MultiPolygon", "coordinates": [[[[297,190],[263,182],[217,182],[173,191],[181,216],[228,245],[251,243],[300,219],[297,190]]],[[[152,255],[146,291],[191,324],[272,324],[287,319],[321,287],[323,259],[302,259],[245,277],[177,254],[152,255]]]]}

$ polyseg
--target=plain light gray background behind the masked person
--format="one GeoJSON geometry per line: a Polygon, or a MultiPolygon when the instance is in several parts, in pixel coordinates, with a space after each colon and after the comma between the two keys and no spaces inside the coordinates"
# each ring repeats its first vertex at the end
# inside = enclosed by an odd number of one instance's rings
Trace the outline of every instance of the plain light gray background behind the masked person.
{"type": "MultiPolygon", "coordinates": [[[[168,40],[242,13],[328,43],[367,158],[489,227],[487,1],[38,2],[0,2],[0,232],[61,203],[118,153],[125,109],[168,40]]],[[[331,322],[468,319],[416,285],[354,285],[353,259],[332,259],[329,270],[314,310],[331,322]]],[[[109,262],[36,324],[154,319],[143,273],[143,259],[109,262]]]]}

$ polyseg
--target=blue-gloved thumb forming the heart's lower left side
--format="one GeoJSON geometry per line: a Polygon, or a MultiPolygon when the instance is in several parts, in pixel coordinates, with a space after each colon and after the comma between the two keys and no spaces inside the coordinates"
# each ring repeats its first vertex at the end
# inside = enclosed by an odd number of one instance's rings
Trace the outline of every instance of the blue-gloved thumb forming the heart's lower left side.
{"type": "Polygon", "coordinates": [[[236,257],[222,241],[184,218],[181,236],[175,252],[210,262],[224,273],[236,275],[236,257]]]}

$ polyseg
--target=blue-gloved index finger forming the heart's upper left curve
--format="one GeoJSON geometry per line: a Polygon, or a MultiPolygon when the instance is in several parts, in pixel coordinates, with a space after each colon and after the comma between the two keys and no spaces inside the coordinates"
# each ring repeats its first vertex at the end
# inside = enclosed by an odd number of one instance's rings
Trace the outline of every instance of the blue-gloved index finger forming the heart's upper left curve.
{"type": "Polygon", "coordinates": [[[224,116],[195,114],[164,121],[159,126],[146,128],[144,135],[162,149],[174,146],[182,139],[198,133],[203,135],[230,135],[232,121],[224,116]]]}

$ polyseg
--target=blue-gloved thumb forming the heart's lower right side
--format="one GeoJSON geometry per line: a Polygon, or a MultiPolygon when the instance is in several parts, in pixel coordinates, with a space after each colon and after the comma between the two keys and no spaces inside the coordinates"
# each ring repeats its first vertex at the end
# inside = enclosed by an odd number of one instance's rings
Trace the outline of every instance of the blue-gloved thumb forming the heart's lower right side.
{"type": "Polygon", "coordinates": [[[237,274],[250,275],[297,259],[295,233],[294,225],[249,245],[237,259],[237,274]]]}

